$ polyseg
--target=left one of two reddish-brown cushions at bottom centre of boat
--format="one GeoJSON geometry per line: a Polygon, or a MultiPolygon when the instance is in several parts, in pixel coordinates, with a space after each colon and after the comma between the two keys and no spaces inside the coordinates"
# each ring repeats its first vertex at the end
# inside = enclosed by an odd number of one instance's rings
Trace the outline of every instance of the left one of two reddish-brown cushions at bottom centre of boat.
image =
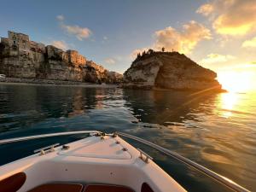
{"type": "Polygon", "coordinates": [[[28,192],[81,192],[83,185],[79,183],[47,183],[28,192]]]}

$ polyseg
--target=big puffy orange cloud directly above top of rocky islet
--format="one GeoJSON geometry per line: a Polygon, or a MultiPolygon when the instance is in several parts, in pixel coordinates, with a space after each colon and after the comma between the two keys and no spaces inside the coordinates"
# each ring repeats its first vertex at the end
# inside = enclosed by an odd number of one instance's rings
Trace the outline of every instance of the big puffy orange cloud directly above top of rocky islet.
{"type": "Polygon", "coordinates": [[[155,32],[154,35],[154,49],[165,47],[166,50],[174,49],[182,53],[191,52],[201,40],[211,38],[210,30],[195,20],[183,25],[181,32],[169,26],[155,32]]]}

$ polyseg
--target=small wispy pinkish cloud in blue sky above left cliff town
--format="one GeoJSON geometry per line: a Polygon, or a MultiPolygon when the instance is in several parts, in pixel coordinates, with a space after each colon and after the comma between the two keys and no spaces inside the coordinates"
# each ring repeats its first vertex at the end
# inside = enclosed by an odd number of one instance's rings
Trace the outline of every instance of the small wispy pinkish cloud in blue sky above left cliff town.
{"type": "Polygon", "coordinates": [[[65,22],[64,22],[65,18],[63,15],[57,15],[56,18],[57,18],[57,20],[60,21],[61,29],[70,35],[74,35],[76,38],[79,39],[79,41],[83,41],[84,39],[89,38],[90,35],[92,34],[90,29],[87,27],[81,27],[78,25],[69,26],[69,25],[65,24],[65,22]]]}

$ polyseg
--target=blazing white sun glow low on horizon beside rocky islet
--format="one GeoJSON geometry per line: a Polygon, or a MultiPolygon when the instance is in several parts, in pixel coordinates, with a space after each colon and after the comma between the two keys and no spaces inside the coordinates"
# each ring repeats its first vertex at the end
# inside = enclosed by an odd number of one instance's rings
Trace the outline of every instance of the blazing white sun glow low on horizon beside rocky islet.
{"type": "Polygon", "coordinates": [[[249,71],[223,71],[218,73],[218,81],[229,92],[246,92],[252,89],[253,73],[249,71]]]}

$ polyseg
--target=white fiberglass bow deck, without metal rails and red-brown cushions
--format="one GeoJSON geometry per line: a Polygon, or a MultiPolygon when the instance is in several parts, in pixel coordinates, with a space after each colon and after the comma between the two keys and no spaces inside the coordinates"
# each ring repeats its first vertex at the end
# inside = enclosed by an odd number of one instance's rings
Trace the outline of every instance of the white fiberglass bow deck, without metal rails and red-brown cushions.
{"type": "MultiPolygon", "coordinates": [[[[5,178],[23,172],[26,181],[18,192],[26,192],[45,183],[105,183],[144,192],[147,183],[154,192],[185,191],[152,160],[140,159],[140,153],[120,137],[87,137],[67,144],[69,148],[34,154],[0,167],[0,184],[5,178]],[[124,150],[124,148],[126,148],[124,150]]],[[[85,187],[84,187],[85,189],[85,187]]]]}

